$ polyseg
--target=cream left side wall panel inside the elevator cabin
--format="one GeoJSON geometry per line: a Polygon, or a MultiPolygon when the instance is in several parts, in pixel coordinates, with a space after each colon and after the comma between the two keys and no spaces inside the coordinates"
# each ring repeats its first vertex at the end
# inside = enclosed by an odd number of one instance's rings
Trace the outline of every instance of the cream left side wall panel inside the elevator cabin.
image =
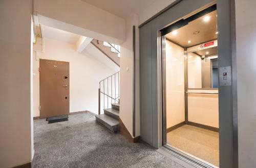
{"type": "Polygon", "coordinates": [[[166,128],[185,121],[184,49],[166,40],[166,128]]]}

